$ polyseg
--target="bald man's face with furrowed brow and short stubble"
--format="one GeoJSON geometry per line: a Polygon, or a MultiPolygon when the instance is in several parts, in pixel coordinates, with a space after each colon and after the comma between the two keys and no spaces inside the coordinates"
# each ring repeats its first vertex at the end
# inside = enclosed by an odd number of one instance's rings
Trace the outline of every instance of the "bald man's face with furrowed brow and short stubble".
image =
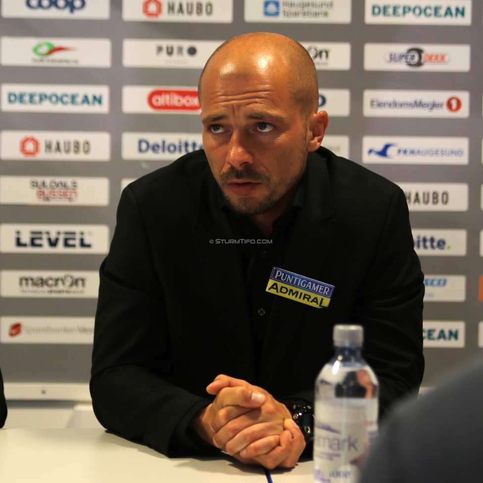
{"type": "Polygon", "coordinates": [[[305,167],[307,128],[283,72],[220,78],[205,72],[203,147],[232,208],[257,215],[294,188],[305,167]]]}

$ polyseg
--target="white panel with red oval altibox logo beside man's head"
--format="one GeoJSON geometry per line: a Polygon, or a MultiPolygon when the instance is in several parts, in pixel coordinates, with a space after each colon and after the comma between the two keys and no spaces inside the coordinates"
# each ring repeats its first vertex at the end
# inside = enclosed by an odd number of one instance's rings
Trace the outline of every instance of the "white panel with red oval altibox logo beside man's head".
{"type": "Polygon", "coordinates": [[[122,111],[148,114],[199,114],[198,91],[194,87],[124,86],[122,111]]]}

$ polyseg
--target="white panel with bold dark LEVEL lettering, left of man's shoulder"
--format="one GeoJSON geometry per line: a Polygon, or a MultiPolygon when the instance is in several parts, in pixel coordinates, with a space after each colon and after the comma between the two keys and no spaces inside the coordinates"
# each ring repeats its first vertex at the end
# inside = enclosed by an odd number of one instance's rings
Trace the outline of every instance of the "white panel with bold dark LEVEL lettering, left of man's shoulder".
{"type": "Polygon", "coordinates": [[[104,254],[109,250],[106,225],[0,224],[1,253],[104,254]]]}

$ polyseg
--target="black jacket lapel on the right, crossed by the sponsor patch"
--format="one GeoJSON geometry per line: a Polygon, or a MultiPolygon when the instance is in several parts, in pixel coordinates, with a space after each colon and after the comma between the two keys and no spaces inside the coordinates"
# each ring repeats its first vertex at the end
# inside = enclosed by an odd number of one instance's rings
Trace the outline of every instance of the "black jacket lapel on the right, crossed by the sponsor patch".
{"type": "MultiPolygon", "coordinates": [[[[304,204],[297,215],[281,268],[325,282],[322,267],[334,238],[333,215],[326,164],[319,155],[310,153],[304,204]]],[[[260,386],[269,385],[284,358],[290,357],[290,344],[306,310],[325,309],[275,295],[260,364],[260,386]]]]}

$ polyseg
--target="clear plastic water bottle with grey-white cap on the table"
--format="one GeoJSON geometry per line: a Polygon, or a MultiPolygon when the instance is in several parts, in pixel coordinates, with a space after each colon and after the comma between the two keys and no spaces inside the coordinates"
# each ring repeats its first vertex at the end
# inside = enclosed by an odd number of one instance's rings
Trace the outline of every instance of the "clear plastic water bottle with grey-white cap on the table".
{"type": "Polygon", "coordinates": [[[378,433],[379,383],[362,358],[363,328],[334,327],[334,357],[315,382],[314,481],[355,483],[378,433]]]}

